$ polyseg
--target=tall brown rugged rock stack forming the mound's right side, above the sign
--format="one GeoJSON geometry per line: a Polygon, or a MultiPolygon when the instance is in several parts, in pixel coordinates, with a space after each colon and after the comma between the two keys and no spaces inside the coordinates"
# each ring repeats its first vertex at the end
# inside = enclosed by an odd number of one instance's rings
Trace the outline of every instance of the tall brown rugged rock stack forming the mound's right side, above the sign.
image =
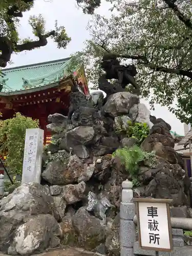
{"type": "Polygon", "coordinates": [[[145,185],[144,195],[154,198],[173,199],[174,206],[189,204],[190,180],[185,174],[184,162],[174,150],[170,125],[163,119],[151,117],[154,122],[150,134],[142,142],[144,151],[154,151],[156,160],[152,166],[141,167],[140,181],[145,185]]]}

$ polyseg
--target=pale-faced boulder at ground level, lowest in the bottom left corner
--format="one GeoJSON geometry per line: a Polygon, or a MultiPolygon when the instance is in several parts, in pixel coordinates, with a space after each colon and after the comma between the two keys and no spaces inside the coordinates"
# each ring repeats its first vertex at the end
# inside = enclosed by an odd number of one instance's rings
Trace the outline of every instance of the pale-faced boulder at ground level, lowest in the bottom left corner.
{"type": "Polygon", "coordinates": [[[60,245],[61,229],[51,215],[30,216],[18,226],[9,254],[31,255],[60,245]]]}

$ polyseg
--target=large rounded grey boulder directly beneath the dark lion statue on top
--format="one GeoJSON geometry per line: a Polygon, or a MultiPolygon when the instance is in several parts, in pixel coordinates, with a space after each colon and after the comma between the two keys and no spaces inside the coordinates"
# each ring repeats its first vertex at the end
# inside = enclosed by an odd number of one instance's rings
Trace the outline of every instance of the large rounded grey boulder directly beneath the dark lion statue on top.
{"type": "Polygon", "coordinates": [[[129,92],[118,92],[109,96],[103,111],[112,117],[127,115],[134,104],[139,103],[139,96],[129,92]]]}

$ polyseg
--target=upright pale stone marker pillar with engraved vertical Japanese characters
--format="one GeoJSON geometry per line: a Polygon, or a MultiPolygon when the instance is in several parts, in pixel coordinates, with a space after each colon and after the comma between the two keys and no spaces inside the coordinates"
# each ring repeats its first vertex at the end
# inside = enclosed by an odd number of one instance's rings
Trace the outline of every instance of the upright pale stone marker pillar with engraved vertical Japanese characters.
{"type": "Polygon", "coordinates": [[[44,130],[26,129],[22,184],[40,183],[44,130]]]}

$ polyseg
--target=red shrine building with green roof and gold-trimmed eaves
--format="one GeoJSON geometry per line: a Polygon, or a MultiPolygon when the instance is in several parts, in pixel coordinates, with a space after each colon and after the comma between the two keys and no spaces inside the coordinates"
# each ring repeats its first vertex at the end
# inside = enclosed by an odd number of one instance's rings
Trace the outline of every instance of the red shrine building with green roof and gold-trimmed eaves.
{"type": "Polygon", "coordinates": [[[35,63],[0,70],[0,112],[9,119],[16,112],[39,120],[44,130],[44,144],[51,134],[47,131],[48,115],[60,113],[67,116],[69,94],[78,83],[84,94],[89,94],[83,67],[69,72],[70,58],[35,63]]]}

